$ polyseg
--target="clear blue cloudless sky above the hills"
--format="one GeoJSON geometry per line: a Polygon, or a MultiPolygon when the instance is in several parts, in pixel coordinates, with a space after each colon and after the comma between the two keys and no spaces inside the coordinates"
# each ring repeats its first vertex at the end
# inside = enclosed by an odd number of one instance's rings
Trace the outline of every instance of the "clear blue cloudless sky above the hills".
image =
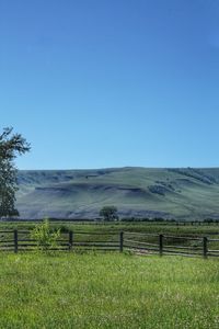
{"type": "Polygon", "coordinates": [[[20,169],[219,166],[218,0],[0,0],[20,169]]]}

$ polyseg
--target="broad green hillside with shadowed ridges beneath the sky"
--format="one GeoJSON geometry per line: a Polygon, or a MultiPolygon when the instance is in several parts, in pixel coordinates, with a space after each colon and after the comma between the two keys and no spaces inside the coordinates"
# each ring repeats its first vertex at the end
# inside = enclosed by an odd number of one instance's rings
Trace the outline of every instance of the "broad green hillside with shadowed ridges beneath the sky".
{"type": "Polygon", "coordinates": [[[122,217],[219,218],[219,168],[19,171],[22,218],[95,218],[104,205],[122,217]]]}

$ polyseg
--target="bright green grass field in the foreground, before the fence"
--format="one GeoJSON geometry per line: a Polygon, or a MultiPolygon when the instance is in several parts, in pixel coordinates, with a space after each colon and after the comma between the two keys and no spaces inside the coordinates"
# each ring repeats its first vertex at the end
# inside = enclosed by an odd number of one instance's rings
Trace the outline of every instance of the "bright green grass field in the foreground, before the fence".
{"type": "Polygon", "coordinates": [[[0,328],[218,328],[219,262],[0,253],[0,328]]]}

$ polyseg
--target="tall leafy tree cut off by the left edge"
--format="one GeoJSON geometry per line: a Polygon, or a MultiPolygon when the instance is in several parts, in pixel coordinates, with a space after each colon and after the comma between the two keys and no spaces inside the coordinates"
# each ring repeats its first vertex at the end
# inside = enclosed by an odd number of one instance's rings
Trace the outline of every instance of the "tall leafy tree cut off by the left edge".
{"type": "Polygon", "coordinates": [[[13,128],[7,127],[0,135],[0,217],[19,215],[14,207],[18,191],[18,170],[14,159],[31,149],[21,134],[12,134],[12,132],[13,128]]]}

